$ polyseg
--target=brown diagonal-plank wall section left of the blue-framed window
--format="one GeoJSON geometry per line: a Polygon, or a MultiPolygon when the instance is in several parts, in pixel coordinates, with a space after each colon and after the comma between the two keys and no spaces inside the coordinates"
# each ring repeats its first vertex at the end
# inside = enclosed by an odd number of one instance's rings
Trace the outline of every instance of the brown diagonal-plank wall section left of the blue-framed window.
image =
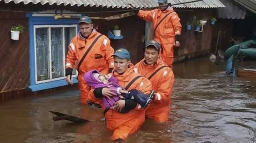
{"type": "Polygon", "coordinates": [[[0,92],[28,87],[29,36],[28,20],[24,13],[0,11],[0,92]],[[23,24],[25,32],[19,40],[10,39],[13,25],[23,24]]]}

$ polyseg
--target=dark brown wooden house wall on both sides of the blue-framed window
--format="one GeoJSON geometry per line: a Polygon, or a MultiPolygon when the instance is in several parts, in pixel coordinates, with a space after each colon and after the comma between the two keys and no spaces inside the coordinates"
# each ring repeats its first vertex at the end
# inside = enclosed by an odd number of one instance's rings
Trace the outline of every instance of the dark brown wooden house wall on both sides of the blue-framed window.
{"type": "MultiPolygon", "coordinates": [[[[42,5],[23,5],[0,2],[0,8],[5,10],[21,10],[21,11],[43,11],[47,9],[55,9],[55,6],[42,5]],[[47,7],[47,8],[45,8],[47,7]]],[[[73,8],[68,6],[58,7],[60,9],[72,10],[76,12],[104,11],[107,8],[82,7],[73,8]]],[[[112,9],[111,9],[112,10],[112,9]]],[[[118,13],[99,13],[90,14],[89,16],[105,17],[108,15],[116,15],[118,13]]],[[[140,20],[136,15],[119,19],[119,20],[93,20],[94,25],[99,26],[99,32],[107,35],[107,31],[111,30],[114,25],[119,25],[123,39],[112,40],[111,45],[114,49],[126,48],[131,53],[131,61],[135,64],[142,59],[142,48],[144,43],[141,36],[144,35],[144,21],[140,20]]],[[[29,33],[28,19],[25,13],[20,12],[3,12],[0,11],[0,102],[9,99],[19,98],[21,96],[29,96],[31,93],[29,86],[29,33]],[[10,39],[10,29],[13,25],[23,24],[25,32],[20,34],[19,40],[10,39]]]]}

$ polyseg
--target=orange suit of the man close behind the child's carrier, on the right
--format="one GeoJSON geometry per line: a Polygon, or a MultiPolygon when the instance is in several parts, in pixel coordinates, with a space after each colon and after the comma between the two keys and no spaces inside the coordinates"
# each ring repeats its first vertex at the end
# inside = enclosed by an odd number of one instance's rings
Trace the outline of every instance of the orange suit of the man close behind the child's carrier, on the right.
{"type": "MultiPolygon", "coordinates": [[[[161,58],[154,66],[145,64],[144,60],[135,65],[134,71],[147,78],[160,67],[167,66],[161,58]]],[[[149,108],[147,108],[146,116],[156,121],[167,121],[171,108],[170,98],[174,84],[173,71],[170,67],[164,67],[152,76],[150,82],[152,83],[153,90],[156,92],[156,97],[149,108]]]]}

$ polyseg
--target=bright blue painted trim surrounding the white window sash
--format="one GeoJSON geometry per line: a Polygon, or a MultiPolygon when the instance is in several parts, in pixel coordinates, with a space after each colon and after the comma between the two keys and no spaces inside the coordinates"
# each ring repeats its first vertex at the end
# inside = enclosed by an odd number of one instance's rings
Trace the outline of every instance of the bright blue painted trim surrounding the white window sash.
{"type": "MultiPolygon", "coordinates": [[[[55,20],[54,17],[32,17],[32,13],[26,13],[29,24],[29,67],[30,67],[30,86],[32,91],[39,91],[43,89],[50,89],[59,86],[67,85],[66,80],[50,81],[41,84],[36,84],[36,69],[35,69],[35,45],[34,45],[34,25],[74,25],[78,24],[79,20],[74,19],[61,19],[55,20]]],[[[79,26],[78,26],[79,29],[79,26]]],[[[79,31],[79,30],[78,30],[79,31]]],[[[74,78],[74,83],[77,83],[77,79],[74,78]]]]}

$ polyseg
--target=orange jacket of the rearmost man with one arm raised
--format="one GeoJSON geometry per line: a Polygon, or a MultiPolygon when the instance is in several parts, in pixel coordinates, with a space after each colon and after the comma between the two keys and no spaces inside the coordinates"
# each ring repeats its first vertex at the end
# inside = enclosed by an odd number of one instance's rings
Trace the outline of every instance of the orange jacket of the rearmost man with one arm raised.
{"type": "Polygon", "coordinates": [[[160,44],[171,44],[175,42],[175,35],[180,35],[182,25],[180,24],[180,18],[177,13],[173,11],[172,7],[168,7],[163,12],[160,9],[154,9],[150,11],[139,10],[137,15],[143,20],[150,21],[153,24],[153,30],[163,17],[169,14],[157,27],[154,33],[154,40],[160,44]]]}

